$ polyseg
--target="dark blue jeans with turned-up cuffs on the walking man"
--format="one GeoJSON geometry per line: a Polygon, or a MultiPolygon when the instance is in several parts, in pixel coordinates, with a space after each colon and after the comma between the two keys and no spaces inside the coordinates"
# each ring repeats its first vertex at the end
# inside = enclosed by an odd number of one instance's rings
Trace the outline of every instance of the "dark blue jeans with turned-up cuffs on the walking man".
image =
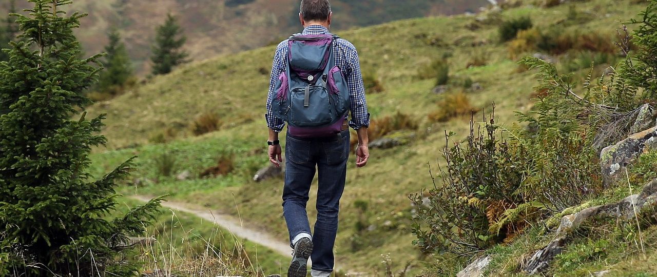
{"type": "Polygon", "coordinates": [[[338,232],[338,210],[344,191],[349,158],[349,131],[334,137],[300,139],[287,135],[283,216],[290,242],[301,233],[311,234],[306,213],[310,184],[317,168],[317,221],[313,233],[312,269],[332,272],[333,245],[338,232]]]}

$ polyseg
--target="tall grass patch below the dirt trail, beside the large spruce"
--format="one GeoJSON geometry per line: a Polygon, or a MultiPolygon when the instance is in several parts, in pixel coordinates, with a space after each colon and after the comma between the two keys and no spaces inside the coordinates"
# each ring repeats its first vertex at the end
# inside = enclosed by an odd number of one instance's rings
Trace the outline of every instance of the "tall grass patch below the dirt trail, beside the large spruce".
{"type": "MultiPolygon", "coordinates": [[[[119,198],[118,211],[141,204],[137,200],[119,198]]],[[[281,274],[288,257],[249,241],[236,238],[210,221],[189,213],[160,208],[147,234],[155,242],[136,247],[135,259],[145,263],[145,270],[178,271],[180,274],[210,276],[211,273],[254,276],[258,272],[281,274]],[[207,275],[200,274],[206,268],[207,275]]],[[[177,272],[172,272],[176,274],[177,272]]]]}

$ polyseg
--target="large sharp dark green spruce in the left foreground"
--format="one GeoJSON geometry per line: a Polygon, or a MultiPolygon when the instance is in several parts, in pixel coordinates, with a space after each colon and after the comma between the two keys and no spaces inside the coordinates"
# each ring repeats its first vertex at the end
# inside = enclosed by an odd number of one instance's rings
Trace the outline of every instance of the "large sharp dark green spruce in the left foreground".
{"type": "Polygon", "coordinates": [[[101,54],[79,58],[74,28],[86,14],[67,16],[72,1],[30,0],[18,16],[20,39],[0,62],[0,276],[129,276],[127,236],[143,232],[160,199],[108,218],[125,161],[99,180],[89,153],[106,139],[102,119],[81,107],[97,79],[101,54]],[[76,117],[72,119],[72,117],[76,117]]]}

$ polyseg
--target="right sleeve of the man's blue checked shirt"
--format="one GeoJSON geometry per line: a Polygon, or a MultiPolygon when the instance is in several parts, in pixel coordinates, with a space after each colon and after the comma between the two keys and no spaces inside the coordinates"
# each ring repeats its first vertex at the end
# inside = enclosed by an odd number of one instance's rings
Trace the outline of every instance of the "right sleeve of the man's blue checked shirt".
{"type": "Polygon", "coordinates": [[[351,121],[349,126],[355,130],[361,127],[369,127],[369,113],[365,101],[365,85],[363,85],[363,74],[358,53],[352,51],[348,60],[350,72],[347,76],[347,87],[349,88],[351,121]]]}

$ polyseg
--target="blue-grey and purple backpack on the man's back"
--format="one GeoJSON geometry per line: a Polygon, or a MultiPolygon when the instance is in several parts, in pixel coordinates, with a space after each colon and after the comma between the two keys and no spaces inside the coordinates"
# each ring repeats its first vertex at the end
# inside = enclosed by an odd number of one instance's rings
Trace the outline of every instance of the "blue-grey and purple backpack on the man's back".
{"type": "Polygon", "coordinates": [[[271,110],[294,137],[328,137],[342,129],[350,100],[332,51],[338,38],[328,33],[288,39],[287,66],[275,84],[271,110]]]}

